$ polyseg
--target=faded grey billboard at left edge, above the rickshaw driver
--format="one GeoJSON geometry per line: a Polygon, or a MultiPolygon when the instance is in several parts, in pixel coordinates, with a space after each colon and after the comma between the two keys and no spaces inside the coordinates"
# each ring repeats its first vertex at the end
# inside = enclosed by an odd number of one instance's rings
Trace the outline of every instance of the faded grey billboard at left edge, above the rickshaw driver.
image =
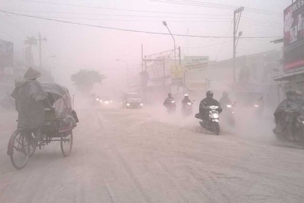
{"type": "Polygon", "coordinates": [[[13,66],[14,44],[0,40],[0,66],[13,66]]]}

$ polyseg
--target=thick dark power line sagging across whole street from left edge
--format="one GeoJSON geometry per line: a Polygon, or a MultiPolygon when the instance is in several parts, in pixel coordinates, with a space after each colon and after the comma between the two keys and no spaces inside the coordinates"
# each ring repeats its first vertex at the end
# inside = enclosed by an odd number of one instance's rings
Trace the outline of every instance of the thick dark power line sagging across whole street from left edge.
{"type": "MultiPolygon", "coordinates": [[[[31,15],[24,15],[24,14],[18,14],[13,12],[7,12],[2,11],[2,13],[9,13],[9,14],[15,14],[19,16],[25,16],[30,18],[37,18],[37,19],[44,19],[49,21],[55,21],[55,22],[63,22],[63,23],[69,23],[69,24],[75,24],[75,25],[84,25],[84,26],[90,26],[90,27],[99,27],[99,28],[106,28],[106,29],[113,29],[113,30],[122,30],[122,31],[130,31],[130,32],[141,32],[141,33],[148,33],[148,34],[154,34],[154,35],[170,35],[170,33],[162,33],[162,32],[151,32],[151,31],[143,31],[143,30],[133,30],[133,29],[123,29],[123,28],[116,28],[116,27],[107,27],[107,26],[99,26],[99,25],[92,25],[92,24],[86,24],[86,23],[78,23],[78,22],[71,22],[71,21],[64,21],[64,20],[56,20],[52,18],[44,18],[44,17],[38,17],[38,16],[31,16],[31,15]]],[[[233,37],[225,37],[225,36],[195,36],[195,35],[181,35],[181,34],[172,34],[174,36],[179,37],[193,37],[193,38],[233,38],[233,37]]],[[[257,38],[282,38],[280,37],[242,37],[246,39],[257,39],[257,38]]]]}

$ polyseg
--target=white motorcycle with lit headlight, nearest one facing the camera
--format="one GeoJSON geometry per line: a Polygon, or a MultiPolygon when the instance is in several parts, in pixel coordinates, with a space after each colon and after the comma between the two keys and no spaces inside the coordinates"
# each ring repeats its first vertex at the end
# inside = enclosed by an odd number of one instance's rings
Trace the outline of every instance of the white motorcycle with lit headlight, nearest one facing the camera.
{"type": "Polygon", "coordinates": [[[217,106],[209,106],[207,107],[209,110],[208,120],[205,120],[201,117],[201,114],[198,113],[195,115],[196,118],[201,119],[200,125],[207,130],[212,131],[214,134],[218,136],[219,134],[219,107],[217,106]]]}

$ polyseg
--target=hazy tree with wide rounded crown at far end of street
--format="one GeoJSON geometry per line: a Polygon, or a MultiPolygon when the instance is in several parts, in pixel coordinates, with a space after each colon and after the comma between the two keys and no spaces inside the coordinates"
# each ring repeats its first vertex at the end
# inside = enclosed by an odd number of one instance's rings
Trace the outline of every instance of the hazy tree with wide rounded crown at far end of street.
{"type": "Polygon", "coordinates": [[[71,75],[71,81],[82,93],[88,93],[95,83],[100,83],[106,79],[98,71],[82,69],[78,73],[71,75]]]}

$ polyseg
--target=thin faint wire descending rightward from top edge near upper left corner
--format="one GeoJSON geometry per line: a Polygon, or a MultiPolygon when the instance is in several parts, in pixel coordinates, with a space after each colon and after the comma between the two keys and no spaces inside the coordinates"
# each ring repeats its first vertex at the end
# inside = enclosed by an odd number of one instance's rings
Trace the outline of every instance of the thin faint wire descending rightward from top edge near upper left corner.
{"type": "MultiPolygon", "coordinates": [[[[86,6],[86,5],[40,2],[40,1],[31,1],[31,0],[16,0],[16,1],[50,4],[50,5],[60,5],[60,6],[73,6],[73,7],[82,7],[82,8],[91,8],[91,9],[104,9],[104,10],[113,10],[113,11],[131,11],[131,12],[141,12],[141,13],[144,12],[144,13],[163,13],[163,14],[178,14],[178,15],[214,15],[214,16],[220,15],[220,14],[174,13],[174,12],[145,11],[145,10],[132,10],[132,9],[117,9],[117,8],[107,8],[107,7],[93,7],[93,6],[86,6]]],[[[221,16],[230,16],[230,15],[221,15],[221,16]]]]}

